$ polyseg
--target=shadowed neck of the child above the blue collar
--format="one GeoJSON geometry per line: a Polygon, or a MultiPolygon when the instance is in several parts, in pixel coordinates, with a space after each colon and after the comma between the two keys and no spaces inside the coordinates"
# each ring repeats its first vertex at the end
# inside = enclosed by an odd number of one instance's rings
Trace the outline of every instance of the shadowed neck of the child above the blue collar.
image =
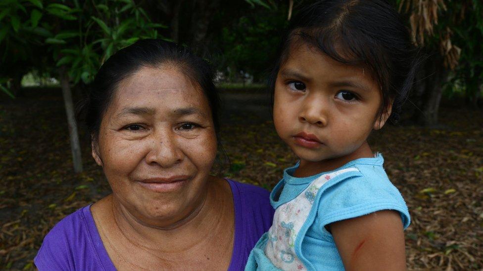
{"type": "Polygon", "coordinates": [[[358,158],[370,157],[374,157],[374,154],[366,141],[361,147],[348,155],[315,162],[300,159],[300,165],[295,169],[293,175],[298,178],[308,177],[321,172],[334,170],[358,158]]]}

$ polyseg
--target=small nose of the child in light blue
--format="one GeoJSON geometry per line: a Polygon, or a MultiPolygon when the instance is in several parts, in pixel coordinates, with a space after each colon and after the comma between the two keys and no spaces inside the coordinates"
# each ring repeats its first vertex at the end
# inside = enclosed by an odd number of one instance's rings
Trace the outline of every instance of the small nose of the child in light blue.
{"type": "Polygon", "coordinates": [[[327,125],[329,105],[323,98],[307,97],[303,102],[298,120],[324,127],[327,125]]]}

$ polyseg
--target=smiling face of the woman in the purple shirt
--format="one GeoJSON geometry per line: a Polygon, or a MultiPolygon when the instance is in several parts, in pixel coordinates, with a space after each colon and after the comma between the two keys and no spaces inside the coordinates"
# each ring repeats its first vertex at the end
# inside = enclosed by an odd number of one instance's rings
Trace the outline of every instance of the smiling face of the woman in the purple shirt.
{"type": "Polygon", "coordinates": [[[166,227],[202,204],[216,147],[199,87],[177,68],[142,68],[119,84],[93,156],[123,208],[166,227]]]}

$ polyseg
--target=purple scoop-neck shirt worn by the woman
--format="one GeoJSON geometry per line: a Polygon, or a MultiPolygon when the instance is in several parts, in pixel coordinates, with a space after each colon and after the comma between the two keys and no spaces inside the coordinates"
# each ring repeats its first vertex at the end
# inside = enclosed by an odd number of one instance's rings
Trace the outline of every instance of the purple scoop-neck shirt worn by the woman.
{"type": "MultiPolygon", "coordinates": [[[[228,270],[243,270],[260,236],[272,225],[269,192],[228,180],[235,203],[235,239],[228,270]]],[[[62,219],[44,238],[34,259],[43,270],[116,270],[102,244],[91,205],[62,219]]]]}

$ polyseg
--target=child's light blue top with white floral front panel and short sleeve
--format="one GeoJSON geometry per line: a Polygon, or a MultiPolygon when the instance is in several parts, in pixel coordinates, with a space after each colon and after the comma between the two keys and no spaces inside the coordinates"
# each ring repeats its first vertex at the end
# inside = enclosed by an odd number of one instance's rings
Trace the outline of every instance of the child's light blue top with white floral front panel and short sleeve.
{"type": "Polygon", "coordinates": [[[360,158],[330,172],[296,178],[298,164],[270,194],[273,225],[251,251],[245,271],[344,270],[332,234],[325,226],[381,210],[395,210],[404,229],[408,208],[387,178],[384,158],[360,158]]]}

